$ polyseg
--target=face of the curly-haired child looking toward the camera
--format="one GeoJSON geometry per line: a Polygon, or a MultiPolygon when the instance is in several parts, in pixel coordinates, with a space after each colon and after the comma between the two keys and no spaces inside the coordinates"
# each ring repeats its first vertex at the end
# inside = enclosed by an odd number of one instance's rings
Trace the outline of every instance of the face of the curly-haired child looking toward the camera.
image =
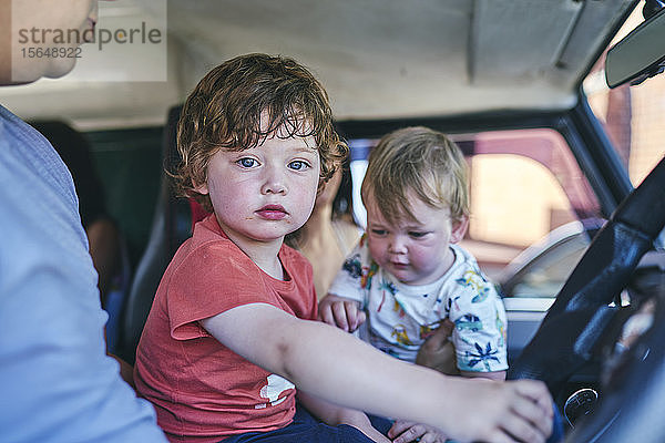
{"type": "Polygon", "coordinates": [[[313,137],[272,136],[253,148],[218,151],[207,181],[219,226],[241,248],[284,238],[307,222],[319,182],[319,154],[313,137]]]}

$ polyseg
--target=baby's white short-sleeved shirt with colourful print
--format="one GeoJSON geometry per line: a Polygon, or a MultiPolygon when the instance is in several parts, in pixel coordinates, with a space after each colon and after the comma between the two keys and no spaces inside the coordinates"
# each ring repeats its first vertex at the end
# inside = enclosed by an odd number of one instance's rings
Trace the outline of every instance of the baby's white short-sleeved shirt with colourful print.
{"type": "Polygon", "coordinates": [[[450,245],[454,262],[439,280],[423,286],[399,282],[369,254],[365,237],[347,257],[329,293],[360,302],[367,313],[366,341],[413,362],[441,320],[454,323],[451,341],[461,371],[508,369],[505,308],[475,259],[450,245]]]}

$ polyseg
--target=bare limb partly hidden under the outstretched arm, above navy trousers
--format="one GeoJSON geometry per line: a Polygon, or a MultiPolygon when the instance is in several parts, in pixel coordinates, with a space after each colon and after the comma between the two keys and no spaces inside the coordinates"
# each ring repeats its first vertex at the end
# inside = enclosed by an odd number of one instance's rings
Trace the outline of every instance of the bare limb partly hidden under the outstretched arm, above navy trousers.
{"type": "Polygon", "coordinates": [[[348,424],[349,426],[358,429],[377,443],[390,443],[390,440],[388,440],[386,435],[381,434],[371,425],[371,422],[365,412],[328,403],[303,391],[298,391],[297,395],[298,401],[323,422],[331,426],[348,424]]]}

